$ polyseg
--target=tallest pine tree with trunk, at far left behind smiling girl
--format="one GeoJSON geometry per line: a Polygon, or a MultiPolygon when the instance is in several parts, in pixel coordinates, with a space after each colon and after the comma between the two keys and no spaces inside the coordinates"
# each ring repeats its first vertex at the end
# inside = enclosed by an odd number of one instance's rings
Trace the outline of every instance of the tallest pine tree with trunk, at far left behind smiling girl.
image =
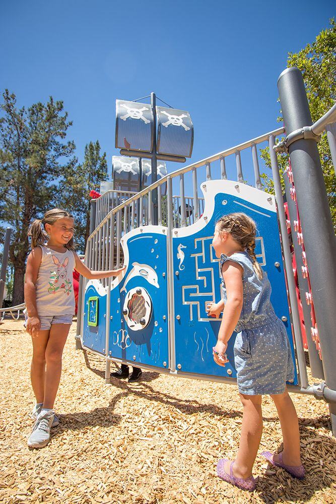
{"type": "MultiPolygon", "coordinates": [[[[75,144],[65,142],[72,122],[63,102],[18,108],[6,90],[0,104],[0,221],[12,229],[10,262],[14,266],[13,303],[23,302],[24,271],[31,221],[58,202],[58,178],[75,165],[75,144]]],[[[2,229],[4,231],[4,229],[2,229]]],[[[3,232],[0,234],[2,235],[3,232]]]]}

